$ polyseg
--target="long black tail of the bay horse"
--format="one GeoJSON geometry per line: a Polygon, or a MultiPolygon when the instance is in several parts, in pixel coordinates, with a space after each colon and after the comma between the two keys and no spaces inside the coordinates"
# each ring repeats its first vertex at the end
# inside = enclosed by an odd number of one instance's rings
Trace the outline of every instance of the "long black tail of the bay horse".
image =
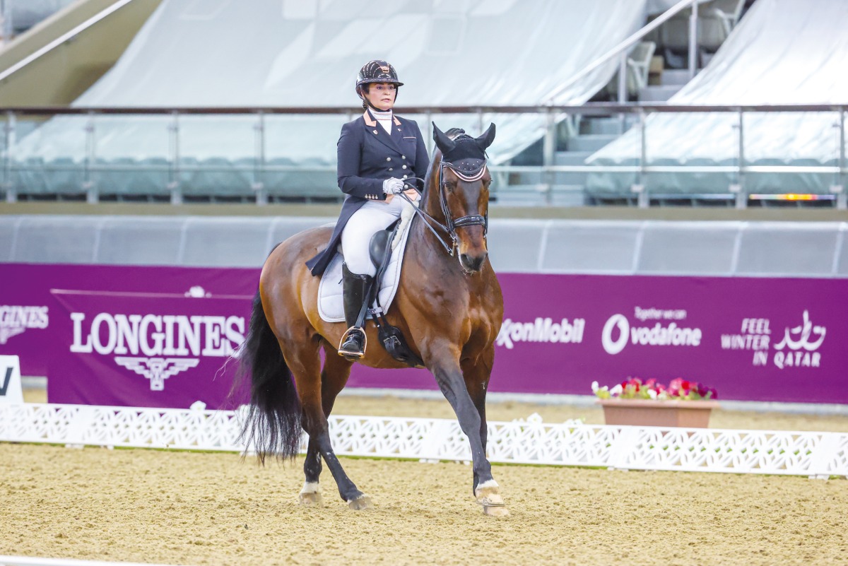
{"type": "Polygon", "coordinates": [[[236,391],[250,380],[250,408],[242,425],[240,441],[256,450],[259,463],[272,456],[294,458],[300,452],[300,402],[291,370],[282,357],[271,325],[265,319],[259,292],[254,297],[250,327],[241,352],[236,391]]]}

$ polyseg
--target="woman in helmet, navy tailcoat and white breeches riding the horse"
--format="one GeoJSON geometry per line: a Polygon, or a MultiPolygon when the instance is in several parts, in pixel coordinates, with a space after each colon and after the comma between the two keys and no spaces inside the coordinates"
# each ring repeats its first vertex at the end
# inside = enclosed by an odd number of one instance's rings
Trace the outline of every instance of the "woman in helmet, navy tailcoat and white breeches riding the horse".
{"type": "MultiPolygon", "coordinates": [[[[342,243],[344,319],[347,332],[338,353],[350,360],[365,355],[365,330],[356,319],[365,302],[377,268],[371,263],[368,247],[371,236],[400,217],[404,181],[424,178],[430,158],[414,120],[400,118],[392,108],[398,90],[394,67],[386,61],[366,63],[356,77],[356,94],[365,113],[342,126],[338,138],[338,187],[347,195],[330,243],[306,262],[312,275],[324,273],[342,243]]],[[[405,194],[415,199],[415,189],[405,194]]]]}

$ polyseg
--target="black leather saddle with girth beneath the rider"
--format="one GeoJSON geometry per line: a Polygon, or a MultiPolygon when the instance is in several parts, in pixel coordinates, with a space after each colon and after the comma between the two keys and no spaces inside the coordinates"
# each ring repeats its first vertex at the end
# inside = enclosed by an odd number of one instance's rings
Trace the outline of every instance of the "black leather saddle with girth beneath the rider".
{"type": "Polygon", "coordinates": [[[371,319],[374,320],[374,325],[377,326],[377,337],[392,358],[399,362],[405,363],[410,368],[422,368],[424,362],[410,350],[406,343],[404,333],[396,326],[389,325],[386,321],[385,312],[380,304],[380,282],[388,268],[389,259],[392,256],[391,242],[394,240],[397,230],[399,229],[400,219],[388,225],[385,230],[378,230],[371,236],[368,253],[371,257],[371,263],[377,268],[377,275],[374,276],[371,288],[365,292],[365,302],[362,304],[359,316],[356,318],[356,325],[360,328],[365,328],[365,317],[371,314],[371,319]]]}

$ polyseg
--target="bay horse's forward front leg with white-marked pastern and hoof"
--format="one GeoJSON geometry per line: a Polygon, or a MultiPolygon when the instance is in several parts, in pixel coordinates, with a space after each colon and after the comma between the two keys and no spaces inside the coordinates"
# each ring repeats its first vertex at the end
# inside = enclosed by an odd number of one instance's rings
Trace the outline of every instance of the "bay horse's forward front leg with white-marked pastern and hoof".
{"type": "MultiPolygon", "coordinates": [[[[486,433],[481,432],[485,421],[477,408],[477,402],[471,398],[466,386],[466,377],[460,369],[460,355],[455,348],[444,349],[440,353],[433,352],[429,356],[427,369],[435,376],[439,389],[454,408],[460,429],[468,437],[471,445],[472,468],[474,482],[472,489],[477,502],[483,505],[483,513],[488,515],[506,515],[509,512],[504,506],[504,498],[500,496],[498,482],[492,476],[492,464],[486,458],[486,433]]],[[[488,381],[488,380],[487,380],[488,381]]],[[[477,390],[475,391],[477,393],[477,390]]],[[[477,394],[477,399],[479,400],[477,394]]],[[[483,396],[485,402],[485,396],[483,396]]]]}

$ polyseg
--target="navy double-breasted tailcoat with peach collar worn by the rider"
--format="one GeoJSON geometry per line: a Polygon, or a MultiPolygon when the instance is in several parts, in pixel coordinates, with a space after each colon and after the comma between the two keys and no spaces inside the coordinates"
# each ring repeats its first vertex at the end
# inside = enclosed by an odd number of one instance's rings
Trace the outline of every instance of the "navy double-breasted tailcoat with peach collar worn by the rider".
{"type": "Polygon", "coordinates": [[[391,130],[389,135],[368,110],[342,126],[338,138],[338,187],[347,197],[329,244],[306,262],[312,275],[324,273],[336,254],[344,225],[354,212],[369,200],[386,200],[383,180],[423,179],[427,175],[430,158],[416,122],[394,115],[391,130]]]}

